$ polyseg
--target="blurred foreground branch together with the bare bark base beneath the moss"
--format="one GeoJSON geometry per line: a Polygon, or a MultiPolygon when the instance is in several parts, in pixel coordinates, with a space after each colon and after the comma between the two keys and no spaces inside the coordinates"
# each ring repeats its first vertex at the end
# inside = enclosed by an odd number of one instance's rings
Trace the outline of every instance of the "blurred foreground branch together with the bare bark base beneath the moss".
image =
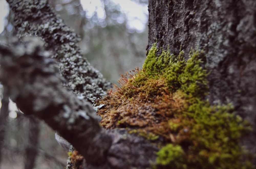
{"type": "Polygon", "coordinates": [[[105,131],[91,103],[61,85],[50,52],[35,37],[0,45],[0,81],[26,115],[33,114],[81,153],[87,168],[146,168],[158,148],[126,130],[105,131]]]}

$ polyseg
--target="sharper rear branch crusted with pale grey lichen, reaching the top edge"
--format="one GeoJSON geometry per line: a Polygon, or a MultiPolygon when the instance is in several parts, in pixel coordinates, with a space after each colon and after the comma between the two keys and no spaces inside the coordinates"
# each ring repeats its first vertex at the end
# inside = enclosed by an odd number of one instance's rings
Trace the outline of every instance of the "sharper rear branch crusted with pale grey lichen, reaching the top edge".
{"type": "Polygon", "coordinates": [[[63,85],[78,96],[93,100],[105,95],[111,83],[90,66],[78,47],[79,37],[50,8],[47,0],[7,0],[20,37],[37,36],[57,60],[63,85]]]}

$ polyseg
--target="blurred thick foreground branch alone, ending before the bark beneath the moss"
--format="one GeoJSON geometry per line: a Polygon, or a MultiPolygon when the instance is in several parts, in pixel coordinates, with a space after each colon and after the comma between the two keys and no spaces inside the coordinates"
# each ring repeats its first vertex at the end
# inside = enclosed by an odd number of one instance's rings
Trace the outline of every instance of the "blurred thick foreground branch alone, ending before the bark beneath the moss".
{"type": "Polygon", "coordinates": [[[23,42],[0,46],[0,80],[10,98],[25,114],[33,114],[58,131],[89,163],[103,163],[111,145],[90,102],[63,88],[58,68],[42,49],[43,42],[24,37],[23,42]]]}

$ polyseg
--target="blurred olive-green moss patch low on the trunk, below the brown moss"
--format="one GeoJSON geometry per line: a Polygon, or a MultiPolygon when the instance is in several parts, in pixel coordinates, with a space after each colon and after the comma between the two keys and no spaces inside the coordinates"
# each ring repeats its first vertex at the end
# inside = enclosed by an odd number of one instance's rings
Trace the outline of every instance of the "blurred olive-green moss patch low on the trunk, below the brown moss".
{"type": "MultiPolygon", "coordinates": [[[[208,101],[198,101],[177,116],[182,119],[178,123],[170,122],[170,128],[186,126],[187,130],[178,132],[174,145],[181,145],[184,166],[188,168],[253,168],[244,161],[246,152],[239,146],[239,138],[250,127],[239,116],[234,116],[231,105],[210,106],[208,101]]],[[[161,159],[165,158],[163,149],[158,153],[156,164],[159,168],[171,167],[173,164],[161,159]]],[[[168,149],[174,153],[173,149],[168,149]]]]}

